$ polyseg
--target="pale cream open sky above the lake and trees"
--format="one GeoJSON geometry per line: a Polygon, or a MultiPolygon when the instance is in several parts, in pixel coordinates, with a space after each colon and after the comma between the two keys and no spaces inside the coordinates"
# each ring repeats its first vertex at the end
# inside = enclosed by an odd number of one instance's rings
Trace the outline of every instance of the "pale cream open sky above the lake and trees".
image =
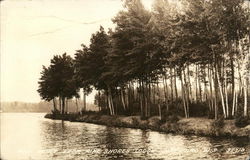
{"type": "MultiPolygon", "coordinates": [[[[152,0],[142,0],[150,9],[152,0]]],[[[1,1],[1,101],[41,101],[38,80],[53,55],[73,57],[122,9],[121,0],[1,1]]],[[[87,101],[93,102],[94,93],[87,101]]]]}

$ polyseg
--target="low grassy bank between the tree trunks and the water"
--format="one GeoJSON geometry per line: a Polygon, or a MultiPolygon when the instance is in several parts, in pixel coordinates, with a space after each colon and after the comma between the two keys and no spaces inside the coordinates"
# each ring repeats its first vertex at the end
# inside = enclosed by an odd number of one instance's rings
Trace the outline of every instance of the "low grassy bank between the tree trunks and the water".
{"type": "Polygon", "coordinates": [[[250,125],[238,128],[234,120],[224,120],[221,128],[213,127],[213,119],[207,118],[182,118],[177,122],[161,123],[158,116],[141,120],[140,116],[109,116],[99,114],[65,114],[53,115],[46,114],[44,118],[53,120],[65,120],[70,122],[85,122],[111,127],[134,128],[152,131],[175,133],[179,135],[197,135],[203,137],[229,137],[229,138],[248,138],[250,139],[250,125]]]}

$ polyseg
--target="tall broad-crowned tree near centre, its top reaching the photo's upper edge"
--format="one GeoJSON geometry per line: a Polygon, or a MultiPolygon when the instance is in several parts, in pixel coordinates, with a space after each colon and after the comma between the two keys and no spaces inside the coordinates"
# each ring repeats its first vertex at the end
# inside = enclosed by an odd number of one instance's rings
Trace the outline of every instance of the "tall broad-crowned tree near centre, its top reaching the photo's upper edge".
{"type": "MultiPolygon", "coordinates": [[[[127,82],[136,80],[141,117],[150,116],[151,82],[161,68],[159,49],[156,45],[151,24],[151,13],[141,1],[124,2],[125,10],[117,14],[113,22],[117,25],[111,34],[112,49],[116,66],[122,79],[127,82]]],[[[121,83],[124,84],[124,83],[121,83]]]]}

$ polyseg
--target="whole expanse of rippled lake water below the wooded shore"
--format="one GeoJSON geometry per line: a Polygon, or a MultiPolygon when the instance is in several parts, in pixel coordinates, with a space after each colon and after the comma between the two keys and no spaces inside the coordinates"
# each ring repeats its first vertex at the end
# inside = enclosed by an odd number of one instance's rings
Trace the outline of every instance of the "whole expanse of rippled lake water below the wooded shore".
{"type": "Polygon", "coordinates": [[[43,117],[41,113],[1,114],[1,158],[246,160],[250,155],[246,139],[180,136],[43,117]]]}

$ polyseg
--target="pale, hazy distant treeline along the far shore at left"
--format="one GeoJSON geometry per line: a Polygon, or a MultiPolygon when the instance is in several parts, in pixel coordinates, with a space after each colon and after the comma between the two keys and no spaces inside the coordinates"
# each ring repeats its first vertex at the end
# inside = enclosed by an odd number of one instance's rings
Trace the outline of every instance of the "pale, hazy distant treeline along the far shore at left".
{"type": "MultiPolygon", "coordinates": [[[[79,103],[82,106],[82,103],[79,103]]],[[[52,102],[1,102],[2,112],[50,112],[53,109],[52,102]]],[[[73,101],[68,102],[68,111],[76,112],[76,105],[73,101]]],[[[80,108],[81,109],[81,108],[80,108]]],[[[94,104],[87,104],[87,110],[96,111],[98,108],[94,104]]]]}

